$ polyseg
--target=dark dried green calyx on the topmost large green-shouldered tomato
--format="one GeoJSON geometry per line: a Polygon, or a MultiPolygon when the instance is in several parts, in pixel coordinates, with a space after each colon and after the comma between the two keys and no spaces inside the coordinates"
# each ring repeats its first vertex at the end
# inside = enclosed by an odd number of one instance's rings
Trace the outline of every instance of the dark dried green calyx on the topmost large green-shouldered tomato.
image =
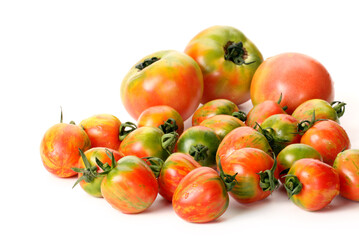
{"type": "Polygon", "coordinates": [[[228,41],[227,44],[224,46],[224,59],[228,61],[232,61],[237,65],[249,65],[254,63],[252,62],[245,62],[248,58],[247,50],[243,47],[242,42],[232,42],[228,41]]]}

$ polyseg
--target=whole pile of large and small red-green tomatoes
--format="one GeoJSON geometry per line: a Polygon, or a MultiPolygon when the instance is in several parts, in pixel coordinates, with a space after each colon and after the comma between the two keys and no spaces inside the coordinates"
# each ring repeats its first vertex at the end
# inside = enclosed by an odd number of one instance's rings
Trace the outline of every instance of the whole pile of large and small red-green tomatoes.
{"type": "Polygon", "coordinates": [[[74,186],[123,213],[145,211],[160,194],[181,218],[209,222],[229,196],[252,203],[280,185],[308,211],[339,194],[359,201],[359,150],[339,122],[345,103],[333,101],[329,73],[309,56],[263,61],[242,32],[214,26],[183,53],[141,59],[121,98],[136,124],[110,114],[66,124],[61,113],[40,152],[49,172],[77,175],[74,186]],[[253,108],[240,111],[249,99],[253,108]]]}

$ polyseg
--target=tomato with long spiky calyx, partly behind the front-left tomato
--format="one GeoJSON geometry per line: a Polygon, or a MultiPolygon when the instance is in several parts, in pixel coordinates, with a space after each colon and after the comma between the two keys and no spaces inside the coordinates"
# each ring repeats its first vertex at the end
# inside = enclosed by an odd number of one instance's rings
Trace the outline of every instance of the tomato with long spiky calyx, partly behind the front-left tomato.
{"type": "Polygon", "coordinates": [[[94,197],[102,197],[101,183],[104,176],[98,173],[103,172],[105,169],[101,169],[96,161],[100,161],[103,164],[102,167],[105,166],[109,169],[113,163],[123,157],[123,154],[103,147],[91,148],[85,153],[80,150],[80,153],[78,168],[72,169],[79,173],[74,187],[80,183],[82,189],[88,194],[94,197]]]}

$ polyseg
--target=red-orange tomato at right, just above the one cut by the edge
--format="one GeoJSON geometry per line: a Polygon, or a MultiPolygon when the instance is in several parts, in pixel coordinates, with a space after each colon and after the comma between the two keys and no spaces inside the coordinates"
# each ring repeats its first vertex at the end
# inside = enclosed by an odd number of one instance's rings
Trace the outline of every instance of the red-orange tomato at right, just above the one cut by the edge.
{"type": "Polygon", "coordinates": [[[304,133],[300,142],[315,148],[322,155],[323,161],[331,166],[338,153],[350,148],[347,133],[332,120],[316,122],[304,133]]]}

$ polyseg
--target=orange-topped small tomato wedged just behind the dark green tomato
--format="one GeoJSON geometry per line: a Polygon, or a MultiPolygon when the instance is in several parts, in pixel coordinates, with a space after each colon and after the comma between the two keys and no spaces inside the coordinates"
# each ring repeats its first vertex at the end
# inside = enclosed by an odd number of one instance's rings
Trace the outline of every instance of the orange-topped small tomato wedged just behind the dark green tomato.
{"type": "Polygon", "coordinates": [[[216,115],[201,122],[200,126],[212,129],[222,140],[230,131],[245,124],[236,117],[229,115],[216,115]]]}

